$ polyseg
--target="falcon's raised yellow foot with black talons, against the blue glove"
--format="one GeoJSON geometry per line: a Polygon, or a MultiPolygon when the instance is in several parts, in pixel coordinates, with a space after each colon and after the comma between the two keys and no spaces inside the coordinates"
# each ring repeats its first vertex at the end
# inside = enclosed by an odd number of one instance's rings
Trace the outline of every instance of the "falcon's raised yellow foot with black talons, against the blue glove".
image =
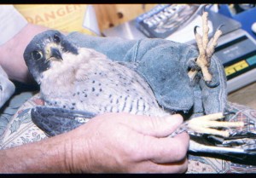
{"type": "MultiPolygon", "coordinates": [[[[195,41],[197,43],[197,47],[199,49],[199,56],[196,59],[195,63],[197,66],[201,68],[201,72],[203,75],[203,78],[207,84],[208,87],[215,87],[218,85],[218,83],[212,83],[212,74],[209,72],[208,67],[210,66],[211,63],[211,57],[214,53],[214,49],[218,44],[218,38],[222,35],[222,32],[220,31],[220,27],[218,27],[217,31],[213,35],[212,39],[209,42],[208,39],[208,32],[209,32],[209,27],[208,27],[208,13],[207,11],[203,11],[202,14],[202,37],[201,35],[196,32],[196,28],[198,26],[195,26],[194,32],[195,32],[195,41]]],[[[190,80],[193,80],[195,78],[195,74],[198,72],[198,69],[193,69],[191,70],[189,74],[190,80]]]]}

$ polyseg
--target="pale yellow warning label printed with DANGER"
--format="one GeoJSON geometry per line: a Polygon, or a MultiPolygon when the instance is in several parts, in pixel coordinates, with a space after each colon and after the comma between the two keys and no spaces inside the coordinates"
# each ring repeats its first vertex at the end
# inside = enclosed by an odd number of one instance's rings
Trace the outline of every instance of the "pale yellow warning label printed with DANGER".
{"type": "Polygon", "coordinates": [[[47,26],[61,32],[85,32],[86,4],[20,4],[15,8],[32,24],[47,26]]]}

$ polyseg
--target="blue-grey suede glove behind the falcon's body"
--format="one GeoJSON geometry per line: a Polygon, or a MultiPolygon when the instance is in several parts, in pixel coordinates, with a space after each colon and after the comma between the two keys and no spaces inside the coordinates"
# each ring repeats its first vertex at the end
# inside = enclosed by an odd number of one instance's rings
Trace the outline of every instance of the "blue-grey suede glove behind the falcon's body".
{"type": "Polygon", "coordinates": [[[96,49],[111,60],[133,67],[146,78],[160,106],[172,112],[196,115],[224,112],[227,100],[224,67],[214,55],[210,72],[218,86],[210,88],[201,78],[201,72],[194,81],[189,80],[189,65],[199,55],[194,46],[156,38],[91,37],[79,32],[67,37],[80,47],[96,49]]]}

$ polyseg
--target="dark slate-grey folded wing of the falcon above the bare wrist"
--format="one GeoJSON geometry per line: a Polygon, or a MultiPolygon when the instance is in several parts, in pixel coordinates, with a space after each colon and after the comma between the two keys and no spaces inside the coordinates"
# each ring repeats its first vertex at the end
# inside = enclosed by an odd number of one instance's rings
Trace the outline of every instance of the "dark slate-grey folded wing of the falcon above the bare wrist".
{"type": "Polygon", "coordinates": [[[32,108],[32,122],[42,129],[46,135],[60,135],[84,124],[79,118],[93,118],[92,112],[81,112],[63,108],[37,106],[32,108]]]}

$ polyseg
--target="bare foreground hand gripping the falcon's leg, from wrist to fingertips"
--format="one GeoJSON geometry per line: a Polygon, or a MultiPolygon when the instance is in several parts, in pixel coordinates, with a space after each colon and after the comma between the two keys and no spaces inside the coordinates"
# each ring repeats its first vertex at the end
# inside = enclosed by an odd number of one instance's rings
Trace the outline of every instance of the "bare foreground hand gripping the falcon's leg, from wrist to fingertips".
{"type": "Polygon", "coordinates": [[[180,115],[149,118],[107,113],[64,134],[67,171],[166,172],[186,171],[189,135],[172,134],[180,115]]]}

